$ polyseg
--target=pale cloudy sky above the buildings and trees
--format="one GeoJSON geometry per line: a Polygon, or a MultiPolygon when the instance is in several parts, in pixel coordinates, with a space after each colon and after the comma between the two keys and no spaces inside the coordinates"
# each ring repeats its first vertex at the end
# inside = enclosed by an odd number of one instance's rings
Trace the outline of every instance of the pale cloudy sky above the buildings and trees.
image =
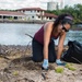
{"type": "MultiPolygon", "coordinates": [[[[47,9],[47,2],[61,0],[0,0],[0,9],[16,10],[21,8],[42,8],[47,9]]],[[[82,0],[65,0],[65,5],[82,4],[82,0]]]]}

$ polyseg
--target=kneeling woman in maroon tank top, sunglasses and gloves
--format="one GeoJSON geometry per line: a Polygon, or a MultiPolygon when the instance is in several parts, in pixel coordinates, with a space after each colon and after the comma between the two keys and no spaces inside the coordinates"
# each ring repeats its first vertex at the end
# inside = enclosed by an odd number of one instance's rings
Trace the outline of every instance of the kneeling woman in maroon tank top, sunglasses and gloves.
{"type": "Polygon", "coordinates": [[[40,30],[34,35],[33,38],[33,60],[42,61],[43,69],[48,69],[48,61],[56,61],[59,66],[65,66],[65,62],[60,60],[63,42],[67,32],[72,25],[72,16],[70,14],[59,15],[55,22],[48,22],[44,24],[40,30]],[[59,38],[58,50],[55,51],[54,39],[59,38]],[[57,55],[56,55],[57,54],[57,55]]]}

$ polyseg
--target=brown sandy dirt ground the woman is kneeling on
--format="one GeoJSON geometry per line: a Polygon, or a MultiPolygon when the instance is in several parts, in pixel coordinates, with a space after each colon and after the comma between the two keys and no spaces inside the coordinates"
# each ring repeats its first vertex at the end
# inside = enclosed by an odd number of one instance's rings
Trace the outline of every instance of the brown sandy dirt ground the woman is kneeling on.
{"type": "Polygon", "coordinates": [[[74,71],[63,67],[57,73],[55,62],[42,70],[42,62],[32,60],[31,46],[0,46],[0,82],[82,82],[82,65],[72,63],[74,71]]]}

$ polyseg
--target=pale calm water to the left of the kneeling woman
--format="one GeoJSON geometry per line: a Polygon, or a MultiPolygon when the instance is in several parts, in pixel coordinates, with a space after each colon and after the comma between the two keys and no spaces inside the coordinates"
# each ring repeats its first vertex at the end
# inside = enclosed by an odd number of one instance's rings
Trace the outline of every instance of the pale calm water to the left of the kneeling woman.
{"type": "Polygon", "coordinates": [[[42,24],[0,23],[0,44],[27,45],[32,38],[25,34],[34,36],[40,26],[42,24]]]}

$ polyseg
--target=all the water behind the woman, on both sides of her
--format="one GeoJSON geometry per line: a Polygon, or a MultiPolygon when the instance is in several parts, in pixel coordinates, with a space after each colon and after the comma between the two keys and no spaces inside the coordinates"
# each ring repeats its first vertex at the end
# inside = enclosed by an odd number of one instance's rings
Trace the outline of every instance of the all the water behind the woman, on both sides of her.
{"type": "MultiPolygon", "coordinates": [[[[21,23],[0,23],[0,44],[1,45],[27,45],[32,38],[25,34],[34,36],[42,24],[21,24],[21,23]]],[[[68,40],[79,40],[82,43],[82,31],[70,31],[67,33],[65,45],[68,40]]],[[[58,39],[55,40],[56,45],[58,39]]]]}

